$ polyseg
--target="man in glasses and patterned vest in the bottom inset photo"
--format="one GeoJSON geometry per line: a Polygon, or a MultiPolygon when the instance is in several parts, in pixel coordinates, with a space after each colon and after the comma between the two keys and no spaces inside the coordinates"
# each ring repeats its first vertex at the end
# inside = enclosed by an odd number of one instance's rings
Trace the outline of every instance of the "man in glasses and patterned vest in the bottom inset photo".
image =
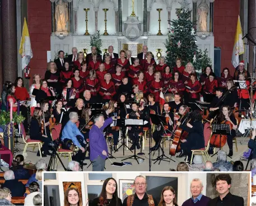
{"type": "Polygon", "coordinates": [[[152,195],[146,193],[147,182],[146,178],[139,175],[134,182],[135,194],[129,195],[124,199],[123,206],[157,206],[157,201],[152,195]],[[148,204],[150,203],[150,204],[148,204]]]}

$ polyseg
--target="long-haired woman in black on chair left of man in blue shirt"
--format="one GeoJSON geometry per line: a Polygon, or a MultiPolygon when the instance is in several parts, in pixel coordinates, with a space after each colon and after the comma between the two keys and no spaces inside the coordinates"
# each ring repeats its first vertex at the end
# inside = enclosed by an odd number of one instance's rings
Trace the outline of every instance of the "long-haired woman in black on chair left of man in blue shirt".
{"type": "MultiPolygon", "coordinates": [[[[50,138],[48,136],[41,133],[41,119],[42,119],[43,110],[39,107],[35,107],[33,111],[33,116],[30,122],[30,138],[31,140],[40,140],[43,143],[41,148],[42,157],[46,157],[46,155],[50,155],[49,153],[49,142],[50,138]]],[[[38,151],[37,156],[40,156],[40,152],[38,151]]]]}

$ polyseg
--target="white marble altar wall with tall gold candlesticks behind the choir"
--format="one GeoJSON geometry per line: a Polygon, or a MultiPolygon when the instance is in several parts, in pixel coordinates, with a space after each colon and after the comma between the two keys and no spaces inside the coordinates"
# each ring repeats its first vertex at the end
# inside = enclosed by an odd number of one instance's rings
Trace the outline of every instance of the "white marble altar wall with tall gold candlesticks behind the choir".
{"type": "MultiPolygon", "coordinates": [[[[214,63],[213,36],[213,3],[214,0],[50,0],[52,2],[52,35],[50,38],[51,58],[54,60],[57,52],[72,53],[72,47],[78,51],[87,49],[91,52],[90,37],[97,31],[102,40],[101,51],[108,46],[114,46],[114,52],[131,50],[132,56],[142,51],[147,45],[148,51],[166,56],[165,42],[169,33],[168,21],[178,17],[175,9],[184,6],[192,10],[191,20],[198,21],[200,5],[207,4],[209,15],[206,16],[206,30],[200,31],[198,23],[196,44],[198,49],[208,51],[208,56],[214,63]],[[57,30],[59,2],[66,3],[68,18],[66,27],[57,30]],[[209,9],[210,8],[210,9],[209,9]],[[158,10],[157,10],[158,9],[158,10]],[[160,33],[161,34],[160,34],[160,33]]],[[[201,6],[202,7],[202,6],[201,6]]],[[[62,25],[63,26],[63,25],[62,25]]],[[[104,52],[102,53],[104,54],[104,52]]]]}

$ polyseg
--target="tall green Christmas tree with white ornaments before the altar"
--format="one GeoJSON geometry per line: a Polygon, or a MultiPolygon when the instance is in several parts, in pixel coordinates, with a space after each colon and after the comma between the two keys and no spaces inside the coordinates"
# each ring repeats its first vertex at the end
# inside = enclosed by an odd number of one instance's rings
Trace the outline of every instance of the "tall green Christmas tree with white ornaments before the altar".
{"type": "MultiPolygon", "coordinates": [[[[198,49],[196,44],[196,22],[190,21],[191,11],[185,8],[177,8],[177,20],[169,21],[169,35],[166,39],[166,62],[173,68],[176,65],[176,58],[181,59],[181,64],[191,62],[194,69],[199,73],[207,65],[211,65],[211,59],[198,49]]],[[[199,75],[198,75],[199,76],[199,75]]]]}

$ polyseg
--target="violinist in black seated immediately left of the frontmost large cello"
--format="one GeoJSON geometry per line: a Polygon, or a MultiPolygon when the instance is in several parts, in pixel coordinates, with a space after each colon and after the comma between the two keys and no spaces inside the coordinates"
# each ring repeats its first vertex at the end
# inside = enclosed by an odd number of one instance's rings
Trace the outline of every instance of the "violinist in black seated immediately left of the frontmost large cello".
{"type": "MultiPolygon", "coordinates": [[[[170,133],[171,131],[173,131],[174,115],[172,112],[170,112],[170,107],[168,103],[164,104],[164,112],[162,113],[162,116],[165,117],[167,123],[166,133],[170,133]]],[[[150,148],[150,151],[158,150],[158,148],[160,147],[160,142],[163,133],[164,131],[162,130],[161,126],[153,132],[153,140],[155,140],[156,144],[155,146],[150,148]]]]}

